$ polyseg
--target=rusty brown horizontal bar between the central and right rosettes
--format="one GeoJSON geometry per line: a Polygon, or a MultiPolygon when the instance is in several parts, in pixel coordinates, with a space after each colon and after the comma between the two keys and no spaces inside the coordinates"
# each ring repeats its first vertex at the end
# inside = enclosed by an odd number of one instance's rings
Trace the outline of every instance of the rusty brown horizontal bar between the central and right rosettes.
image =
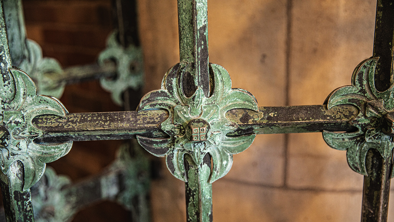
{"type": "Polygon", "coordinates": [[[353,105],[340,105],[327,109],[325,105],[259,107],[259,111],[232,109],[226,118],[238,124],[228,135],[288,134],[305,132],[354,131],[349,122],[358,110],[353,105]]]}

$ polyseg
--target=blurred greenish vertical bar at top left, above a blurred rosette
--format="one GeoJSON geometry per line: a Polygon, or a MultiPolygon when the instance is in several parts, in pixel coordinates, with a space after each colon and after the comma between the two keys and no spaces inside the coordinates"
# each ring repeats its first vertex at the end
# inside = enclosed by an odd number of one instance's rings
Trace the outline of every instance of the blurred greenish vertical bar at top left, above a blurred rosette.
{"type": "Polygon", "coordinates": [[[8,35],[9,51],[14,66],[26,57],[26,29],[21,0],[2,0],[8,35]]]}

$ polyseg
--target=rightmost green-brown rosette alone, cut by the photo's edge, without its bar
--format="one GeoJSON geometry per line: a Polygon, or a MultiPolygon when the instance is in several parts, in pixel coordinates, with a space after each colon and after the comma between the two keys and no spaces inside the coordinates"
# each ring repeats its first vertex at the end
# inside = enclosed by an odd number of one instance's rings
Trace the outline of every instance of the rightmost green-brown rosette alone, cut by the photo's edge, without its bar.
{"type": "Polygon", "coordinates": [[[394,86],[384,92],[375,88],[378,59],[362,61],[353,72],[351,86],[334,90],[326,100],[328,109],[340,104],[355,105],[359,109],[357,117],[349,122],[357,131],[325,131],[323,138],[334,149],[346,150],[349,166],[362,175],[367,175],[365,158],[369,149],[376,149],[383,158],[388,158],[394,147],[391,117],[394,114],[394,86]]]}

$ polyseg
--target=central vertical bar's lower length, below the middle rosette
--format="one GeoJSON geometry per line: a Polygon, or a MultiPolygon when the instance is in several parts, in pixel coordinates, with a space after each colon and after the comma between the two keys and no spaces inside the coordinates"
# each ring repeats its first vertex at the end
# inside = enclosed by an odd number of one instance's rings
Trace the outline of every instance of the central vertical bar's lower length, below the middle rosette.
{"type": "Polygon", "coordinates": [[[185,155],[185,169],[188,182],[186,190],[186,221],[212,222],[212,184],[209,183],[211,174],[211,158],[206,154],[203,162],[197,166],[193,158],[185,155]]]}

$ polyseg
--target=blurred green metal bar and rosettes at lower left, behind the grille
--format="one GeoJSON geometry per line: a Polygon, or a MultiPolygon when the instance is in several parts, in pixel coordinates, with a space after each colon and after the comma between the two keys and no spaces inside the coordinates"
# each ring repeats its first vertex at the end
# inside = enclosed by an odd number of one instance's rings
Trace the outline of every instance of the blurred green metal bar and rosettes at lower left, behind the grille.
{"type": "Polygon", "coordinates": [[[111,200],[130,210],[133,221],[148,222],[149,161],[135,143],[132,148],[128,144],[119,147],[116,160],[102,173],[76,184],[47,167],[31,189],[35,221],[68,222],[84,207],[111,200]],[[134,156],[130,155],[130,149],[134,156]],[[133,203],[136,199],[137,206],[133,203]]]}

